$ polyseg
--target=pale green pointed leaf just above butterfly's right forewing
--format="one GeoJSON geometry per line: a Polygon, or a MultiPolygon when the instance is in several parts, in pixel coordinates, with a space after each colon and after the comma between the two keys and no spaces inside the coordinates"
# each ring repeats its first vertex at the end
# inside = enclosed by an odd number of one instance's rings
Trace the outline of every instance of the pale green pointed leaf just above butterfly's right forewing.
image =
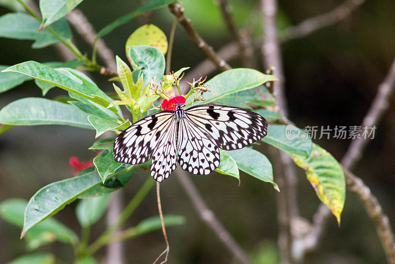
{"type": "MultiPolygon", "coordinates": [[[[257,70],[253,69],[232,69],[218,74],[211,80],[209,80],[205,85],[209,85],[210,92],[204,94],[206,99],[204,103],[209,103],[213,101],[218,101],[221,97],[226,95],[251,89],[260,86],[268,81],[276,81],[277,78],[263,74],[257,70]]],[[[187,102],[192,101],[192,96],[187,99],[187,102]]],[[[197,101],[195,104],[201,104],[202,101],[197,101]]],[[[230,102],[230,104],[232,104],[230,102]]],[[[233,105],[233,104],[232,104],[233,105]]]]}

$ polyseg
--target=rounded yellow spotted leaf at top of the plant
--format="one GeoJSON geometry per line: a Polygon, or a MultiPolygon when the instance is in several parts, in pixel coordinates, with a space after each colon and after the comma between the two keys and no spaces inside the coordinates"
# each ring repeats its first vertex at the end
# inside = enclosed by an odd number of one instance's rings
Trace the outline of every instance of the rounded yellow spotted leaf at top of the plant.
{"type": "Polygon", "coordinates": [[[126,55],[130,46],[149,45],[158,48],[163,54],[167,52],[166,35],[155,25],[144,25],[136,29],[126,41],[126,55]]]}

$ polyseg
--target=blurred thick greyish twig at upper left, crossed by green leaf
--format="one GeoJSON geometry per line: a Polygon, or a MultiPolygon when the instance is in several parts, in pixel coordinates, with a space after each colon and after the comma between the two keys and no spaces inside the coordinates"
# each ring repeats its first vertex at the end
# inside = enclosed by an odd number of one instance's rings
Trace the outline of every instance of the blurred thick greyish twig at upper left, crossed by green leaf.
{"type": "MultiPolygon", "coordinates": [[[[77,33],[91,46],[95,42],[96,31],[92,24],[89,23],[86,16],[81,12],[81,10],[75,8],[71,10],[66,15],[67,20],[76,29],[77,33]]],[[[96,43],[96,49],[99,56],[106,63],[109,70],[116,72],[117,63],[115,61],[114,52],[107,47],[107,44],[102,40],[98,39],[96,43]]]]}

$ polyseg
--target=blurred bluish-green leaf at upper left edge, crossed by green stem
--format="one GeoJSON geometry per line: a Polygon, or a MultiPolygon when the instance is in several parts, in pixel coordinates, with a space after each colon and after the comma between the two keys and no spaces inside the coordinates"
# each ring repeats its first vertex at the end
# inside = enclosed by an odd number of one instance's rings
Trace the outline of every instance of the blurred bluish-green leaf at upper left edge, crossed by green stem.
{"type": "MultiPolygon", "coordinates": [[[[60,42],[47,29],[38,32],[40,22],[24,13],[8,13],[0,17],[0,37],[34,40],[32,48],[41,48],[60,42]]],[[[52,29],[65,40],[71,39],[71,30],[65,18],[52,25],[52,29]]]]}

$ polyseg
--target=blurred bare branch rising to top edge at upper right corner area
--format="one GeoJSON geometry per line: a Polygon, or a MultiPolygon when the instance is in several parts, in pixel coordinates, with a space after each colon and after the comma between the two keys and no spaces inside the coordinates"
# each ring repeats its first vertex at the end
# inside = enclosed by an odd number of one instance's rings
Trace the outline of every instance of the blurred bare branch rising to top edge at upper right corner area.
{"type": "Polygon", "coordinates": [[[345,19],[364,2],[365,0],[346,0],[327,13],[306,19],[296,26],[291,26],[285,30],[285,37],[281,39],[281,42],[303,38],[321,28],[329,27],[345,19]]]}

